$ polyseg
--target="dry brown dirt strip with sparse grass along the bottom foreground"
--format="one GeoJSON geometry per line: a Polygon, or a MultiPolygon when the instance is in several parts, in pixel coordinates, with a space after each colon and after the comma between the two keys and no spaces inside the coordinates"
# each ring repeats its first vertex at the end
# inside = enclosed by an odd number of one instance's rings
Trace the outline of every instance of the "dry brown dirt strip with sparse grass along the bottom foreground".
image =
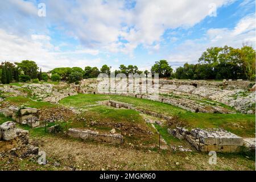
{"type": "Polygon", "coordinates": [[[46,152],[46,167],[65,170],[251,170],[255,162],[245,156],[217,154],[217,164],[208,163],[201,152],[136,150],[69,138],[39,139],[46,152]]]}

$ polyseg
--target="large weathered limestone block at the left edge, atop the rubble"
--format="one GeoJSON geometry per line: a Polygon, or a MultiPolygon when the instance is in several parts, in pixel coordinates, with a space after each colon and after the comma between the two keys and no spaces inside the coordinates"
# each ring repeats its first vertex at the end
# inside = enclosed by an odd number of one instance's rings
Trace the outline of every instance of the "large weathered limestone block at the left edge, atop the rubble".
{"type": "Polygon", "coordinates": [[[11,140],[16,138],[16,126],[14,122],[7,121],[0,125],[3,140],[11,140]]]}

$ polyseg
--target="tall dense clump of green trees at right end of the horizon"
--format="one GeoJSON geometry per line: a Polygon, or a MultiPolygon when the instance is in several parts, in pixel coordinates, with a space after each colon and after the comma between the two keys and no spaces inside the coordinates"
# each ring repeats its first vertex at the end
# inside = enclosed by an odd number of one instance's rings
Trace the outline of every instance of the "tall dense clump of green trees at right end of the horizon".
{"type": "Polygon", "coordinates": [[[176,69],[172,77],[178,79],[249,79],[255,80],[255,50],[242,48],[212,47],[203,52],[198,64],[185,63],[176,69]]]}

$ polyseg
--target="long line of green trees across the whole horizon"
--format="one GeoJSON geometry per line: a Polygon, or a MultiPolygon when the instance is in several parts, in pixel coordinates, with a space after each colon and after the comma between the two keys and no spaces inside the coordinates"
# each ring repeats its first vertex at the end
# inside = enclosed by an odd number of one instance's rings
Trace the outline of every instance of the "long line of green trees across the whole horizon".
{"type": "MultiPolygon", "coordinates": [[[[78,82],[83,78],[95,78],[100,73],[110,75],[111,67],[104,64],[100,69],[97,67],[54,68],[51,73],[52,81],[78,82]]],[[[185,63],[183,67],[174,71],[167,60],[156,61],[150,71],[139,71],[137,65],[119,65],[118,70],[113,71],[115,76],[123,73],[128,76],[130,73],[146,76],[148,73],[159,74],[160,78],[178,78],[194,80],[211,79],[249,79],[255,80],[255,50],[253,47],[243,45],[242,48],[211,47],[202,53],[197,64],[185,63]]],[[[2,84],[11,82],[39,82],[48,81],[49,74],[42,72],[35,61],[23,60],[20,63],[2,62],[0,65],[0,77],[2,84]]]]}

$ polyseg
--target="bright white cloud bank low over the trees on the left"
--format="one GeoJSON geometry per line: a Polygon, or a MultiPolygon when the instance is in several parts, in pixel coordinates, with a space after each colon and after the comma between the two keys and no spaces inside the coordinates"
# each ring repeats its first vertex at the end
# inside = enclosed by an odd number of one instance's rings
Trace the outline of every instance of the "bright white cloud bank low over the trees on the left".
{"type": "MultiPolygon", "coordinates": [[[[8,34],[5,30],[0,29],[0,60],[1,61],[20,61],[35,60],[39,67],[43,67],[43,71],[48,71],[56,67],[81,67],[86,65],[100,66],[101,59],[79,59],[72,55],[72,52],[55,52],[54,46],[49,42],[49,38],[45,35],[33,35],[31,39],[22,38],[17,35],[8,34]],[[45,39],[46,38],[46,39],[45,39]]],[[[73,54],[93,54],[98,53],[97,50],[84,49],[73,51],[73,54]]]]}

